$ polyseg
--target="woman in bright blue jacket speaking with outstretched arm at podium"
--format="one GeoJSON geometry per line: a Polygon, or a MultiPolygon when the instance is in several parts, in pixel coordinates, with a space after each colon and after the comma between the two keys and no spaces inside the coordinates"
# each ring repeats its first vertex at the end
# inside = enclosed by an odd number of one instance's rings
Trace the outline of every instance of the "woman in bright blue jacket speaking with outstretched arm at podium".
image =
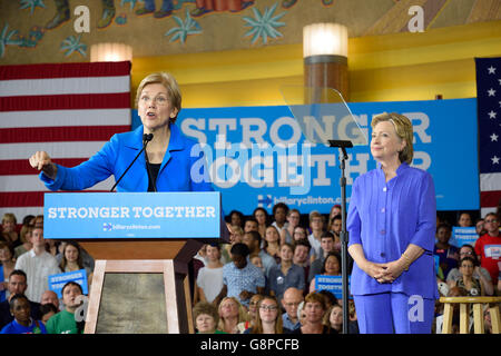
{"type": "Polygon", "coordinates": [[[137,89],[136,106],[143,126],[114,135],[89,160],[67,168],[37,151],[29,159],[31,167],[41,170],[50,190],[82,190],[110,175],[119,180],[118,191],[213,190],[202,149],[175,125],[181,109],[176,79],[165,72],[147,76],[137,89]],[[145,155],[138,156],[144,148],[145,155]]]}

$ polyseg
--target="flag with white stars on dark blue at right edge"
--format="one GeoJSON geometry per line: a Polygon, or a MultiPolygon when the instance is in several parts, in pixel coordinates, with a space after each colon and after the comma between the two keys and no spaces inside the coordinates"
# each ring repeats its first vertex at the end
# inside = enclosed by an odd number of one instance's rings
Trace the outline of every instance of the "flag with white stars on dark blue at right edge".
{"type": "Polygon", "coordinates": [[[501,200],[501,58],[475,58],[482,217],[501,200]]]}

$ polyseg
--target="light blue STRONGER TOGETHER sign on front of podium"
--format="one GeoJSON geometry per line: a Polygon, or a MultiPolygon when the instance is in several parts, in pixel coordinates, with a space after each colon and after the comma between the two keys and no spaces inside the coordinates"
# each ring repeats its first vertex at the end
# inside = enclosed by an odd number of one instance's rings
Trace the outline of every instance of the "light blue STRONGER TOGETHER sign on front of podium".
{"type": "Polygon", "coordinates": [[[219,238],[220,194],[49,192],[43,225],[52,239],[219,238]]]}

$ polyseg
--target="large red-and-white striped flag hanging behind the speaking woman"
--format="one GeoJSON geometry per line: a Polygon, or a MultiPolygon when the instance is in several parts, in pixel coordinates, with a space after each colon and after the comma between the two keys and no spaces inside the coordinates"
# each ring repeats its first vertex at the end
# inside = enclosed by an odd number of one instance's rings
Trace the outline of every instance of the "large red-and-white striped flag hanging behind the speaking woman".
{"type": "Polygon", "coordinates": [[[28,162],[32,154],[72,167],[130,123],[128,61],[0,66],[0,216],[13,212],[20,224],[43,212],[48,190],[28,162]]]}

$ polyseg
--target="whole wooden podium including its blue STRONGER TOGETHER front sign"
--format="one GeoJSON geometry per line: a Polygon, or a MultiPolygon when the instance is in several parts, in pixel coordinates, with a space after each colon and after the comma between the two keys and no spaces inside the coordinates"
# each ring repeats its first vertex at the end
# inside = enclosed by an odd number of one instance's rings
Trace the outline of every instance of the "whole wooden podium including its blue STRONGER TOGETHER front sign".
{"type": "Polygon", "coordinates": [[[229,241],[220,192],[49,192],[43,215],[96,260],[86,334],[194,333],[188,263],[229,241]]]}

